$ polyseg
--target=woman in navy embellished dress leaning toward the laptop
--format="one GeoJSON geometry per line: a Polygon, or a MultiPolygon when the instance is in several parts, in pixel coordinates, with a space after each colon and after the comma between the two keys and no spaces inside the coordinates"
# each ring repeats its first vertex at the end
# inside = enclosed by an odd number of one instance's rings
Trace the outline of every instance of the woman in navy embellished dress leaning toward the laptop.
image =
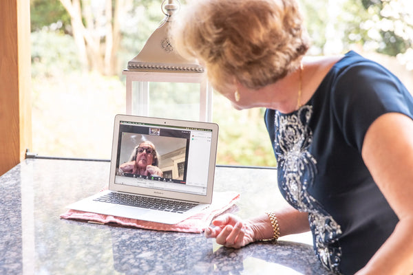
{"type": "Polygon", "coordinates": [[[337,274],[412,274],[413,98],[395,76],[354,52],[304,58],[292,0],[193,1],[171,36],[236,109],[267,109],[279,189],[293,206],[218,217],[207,237],[241,248],[311,230],[337,274]]]}

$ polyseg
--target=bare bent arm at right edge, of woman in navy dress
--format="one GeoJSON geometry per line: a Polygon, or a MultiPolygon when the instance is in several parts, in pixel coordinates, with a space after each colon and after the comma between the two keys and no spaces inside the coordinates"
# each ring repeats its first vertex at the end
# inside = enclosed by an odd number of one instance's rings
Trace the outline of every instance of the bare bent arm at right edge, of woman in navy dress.
{"type": "Polygon", "coordinates": [[[413,120],[401,113],[381,115],[368,129],[361,153],[399,223],[357,274],[410,275],[413,273],[413,120]]]}

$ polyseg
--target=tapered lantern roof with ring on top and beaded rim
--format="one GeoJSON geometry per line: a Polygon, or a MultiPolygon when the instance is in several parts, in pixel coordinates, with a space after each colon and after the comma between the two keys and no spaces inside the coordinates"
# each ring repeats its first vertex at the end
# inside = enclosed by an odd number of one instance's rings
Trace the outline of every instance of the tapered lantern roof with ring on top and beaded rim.
{"type": "Polygon", "coordinates": [[[168,32],[169,23],[173,20],[173,14],[179,9],[179,1],[178,4],[174,2],[174,0],[164,0],[162,2],[161,9],[166,17],[153,34],[149,36],[140,53],[127,63],[129,71],[204,72],[204,68],[200,65],[180,56],[171,44],[168,32]],[[164,5],[165,1],[168,1],[166,5],[164,5]]]}

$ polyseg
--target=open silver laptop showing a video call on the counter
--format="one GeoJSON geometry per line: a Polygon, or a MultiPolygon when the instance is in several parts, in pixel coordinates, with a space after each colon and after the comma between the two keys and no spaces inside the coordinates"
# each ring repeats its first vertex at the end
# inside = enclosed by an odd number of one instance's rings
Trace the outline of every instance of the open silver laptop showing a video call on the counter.
{"type": "Polygon", "coordinates": [[[215,123],[116,115],[108,190],[67,208],[179,223],[212,201],[217,142],[215,123]]]}

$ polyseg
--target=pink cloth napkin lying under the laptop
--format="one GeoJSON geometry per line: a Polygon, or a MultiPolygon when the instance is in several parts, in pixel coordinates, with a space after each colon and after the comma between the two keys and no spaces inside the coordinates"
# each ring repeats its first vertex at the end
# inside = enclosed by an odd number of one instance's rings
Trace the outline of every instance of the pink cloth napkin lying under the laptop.
{"type": "Polygon", "coordinates": [[[123,217],[109,216],[106,214],[97,214],[83,212],[78,210],[67,210],[61,214],[62,219],[79,219],[92,223],[118,223],[120,225],[131,226],[135,228],[145,228],[161,231],[176,231],[187,233],[200,233],[211,223],[212,219],[225,210],[228,210],[235,202],[240,199],[240,194],[235,192],[214,192],[211,206],[202,210],[184,221],[176,224],[155,223],[153,221],[141,221],[137,219],[128,219],[123,217]]]}

